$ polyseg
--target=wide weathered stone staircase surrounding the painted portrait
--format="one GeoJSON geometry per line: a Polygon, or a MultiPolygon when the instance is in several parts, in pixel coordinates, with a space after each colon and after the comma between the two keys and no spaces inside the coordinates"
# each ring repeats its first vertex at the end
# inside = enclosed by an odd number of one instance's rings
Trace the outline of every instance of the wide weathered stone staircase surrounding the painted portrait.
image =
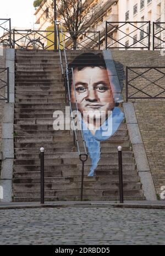
{"type": "MultiPolygon", "coordinates": [[[[67,51],[71,61],[79,51],[67,51]]],[[[53,130],[53,112],[65,110],[59,53],[16,51],[14,113],[14,201],[40,200],[40,147],[45,148],[45,200],[80,200],[81,162],[68,130],[53,130]]],[[[143,200],[127,124],[101,143],[101,160],[94,177],[87,177],[84,200],[119,198],[117,146],[123,146],[124,199],[143,200]]],[[[83,143],[80,143],[83,147],[83,143]]]]}

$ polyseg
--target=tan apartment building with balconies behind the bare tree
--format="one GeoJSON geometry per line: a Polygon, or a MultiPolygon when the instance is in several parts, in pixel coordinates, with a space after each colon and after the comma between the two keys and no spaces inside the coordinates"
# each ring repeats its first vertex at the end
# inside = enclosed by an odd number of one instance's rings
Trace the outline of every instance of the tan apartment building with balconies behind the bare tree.
{"type": "MultiPolygon", "coordinates": [[[[78,38],[79,48],[90,45],[90,47],[97,49],[98,44],[98,34],[100,32],[100,48],[105,48],[105,27],[106,21],[118,21],[118,1],[117,0],[84,0],[92,4],[94,8],[92,12],[92,19],[87,24],[84,31],[86,33],[82,34],[78,38]],[[91,31],[91,32],[87,32],[91,31]]],[[[57,1],[58,2],[58,1],[57,1]]],[[[57,13],[58,14],[58,13],[57,13]]],[[[39,30],[52,30],[53,29],[53,1],[43,0],[41,5],[37,8],[35,12],[36,24],[39,30]]],[[[58,15],[58,20],[61,18],[58,15]]],[[[66,35],[68,36],[68,35],[66,35]]],[[[68,42],[69,44],[69,42],[68,42]]],[[[70,48],[72,48],[72,43],[70,43],[70,48]]]]}

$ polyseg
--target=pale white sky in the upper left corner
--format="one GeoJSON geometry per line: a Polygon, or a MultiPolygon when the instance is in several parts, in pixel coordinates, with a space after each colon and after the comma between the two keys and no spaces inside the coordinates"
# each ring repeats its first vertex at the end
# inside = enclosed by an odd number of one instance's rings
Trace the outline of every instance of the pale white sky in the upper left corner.
{"type": "Polygon", "coordinates": [[[0,19],[12,19],[12,28],[33,28],[34,0],[0,0],[0,19]]]}

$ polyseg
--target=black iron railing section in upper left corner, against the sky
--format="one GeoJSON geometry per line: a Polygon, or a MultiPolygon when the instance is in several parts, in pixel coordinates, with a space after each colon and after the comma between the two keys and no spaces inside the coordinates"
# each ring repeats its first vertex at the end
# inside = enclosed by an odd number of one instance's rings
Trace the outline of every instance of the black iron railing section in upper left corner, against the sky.
{"type": "Polygon", "coordinates": [[[12,48],[11,19],[0,19],[0,44],[12,48]]]}

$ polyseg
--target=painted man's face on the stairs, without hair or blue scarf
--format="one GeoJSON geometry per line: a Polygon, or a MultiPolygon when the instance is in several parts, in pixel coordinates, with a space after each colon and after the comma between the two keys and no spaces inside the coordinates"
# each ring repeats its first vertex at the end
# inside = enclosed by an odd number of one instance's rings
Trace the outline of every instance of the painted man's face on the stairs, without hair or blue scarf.
{"type": "MultiPolygon", "coordinates": [[[[78,109],[83,112],[106,112],[113,110],[114,99],[109,83],[108,72],[101,67],[74,69],[74,81],[78,109]]],[[[72,81],[71,101],[75,102],[72,81]]]]}

